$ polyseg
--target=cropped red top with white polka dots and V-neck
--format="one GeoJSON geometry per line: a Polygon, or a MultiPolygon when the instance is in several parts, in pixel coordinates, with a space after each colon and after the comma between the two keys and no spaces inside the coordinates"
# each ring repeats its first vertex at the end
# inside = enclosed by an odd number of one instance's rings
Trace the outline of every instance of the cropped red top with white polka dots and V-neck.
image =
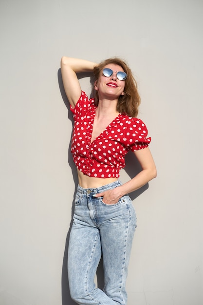
{"type": "Polygon", "coordinates": [[[148,147],[147,127],[141,119],[118,114],[107,128],[91,143],[96,107],[82,91],[75,108],[71,152],[79,171],[90,177],[119,177],[125,167],[125,155],[148,147]]]}

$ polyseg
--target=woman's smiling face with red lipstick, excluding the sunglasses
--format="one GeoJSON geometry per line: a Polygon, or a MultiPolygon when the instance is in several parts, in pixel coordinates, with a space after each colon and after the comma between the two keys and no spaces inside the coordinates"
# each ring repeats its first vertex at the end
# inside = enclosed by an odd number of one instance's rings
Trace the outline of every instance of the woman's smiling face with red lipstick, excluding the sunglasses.
{"type": "Polygon", "coordinates": [[[120,95],[124,95],[125,80],[119,80],[116,73],[124,72],[123,68],[116,64],[108,64],[104,68],[113,70],[113,74],[109,77],[101,74],[94,83],[94,89],[98,91],[99,98],[118,99],[120,95]]]}

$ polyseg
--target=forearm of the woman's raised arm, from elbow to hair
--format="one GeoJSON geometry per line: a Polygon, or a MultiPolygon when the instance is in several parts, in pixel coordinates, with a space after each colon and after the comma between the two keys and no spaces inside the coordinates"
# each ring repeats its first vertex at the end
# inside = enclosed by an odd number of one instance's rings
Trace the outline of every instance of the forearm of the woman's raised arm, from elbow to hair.
{"type": "Polygon", "coordinates": [[[85,59],[65,56],[61,58],[61,66],[70,67],[75,73],[92,72],[96,65],[97,63],[85,59]]]}

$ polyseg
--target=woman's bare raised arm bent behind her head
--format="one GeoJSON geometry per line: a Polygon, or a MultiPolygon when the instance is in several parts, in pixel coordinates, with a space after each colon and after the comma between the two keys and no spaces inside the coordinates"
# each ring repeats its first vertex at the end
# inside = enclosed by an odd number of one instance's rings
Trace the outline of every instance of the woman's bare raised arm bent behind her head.
{"type": "Polygon", "coordinates": [[[92,72],[95,65],[97,64],[84,59],[65,56],[61,58],[63,85],[68,100],[73,108],[81,95],[81,87],[76,73],[92,72]]]}

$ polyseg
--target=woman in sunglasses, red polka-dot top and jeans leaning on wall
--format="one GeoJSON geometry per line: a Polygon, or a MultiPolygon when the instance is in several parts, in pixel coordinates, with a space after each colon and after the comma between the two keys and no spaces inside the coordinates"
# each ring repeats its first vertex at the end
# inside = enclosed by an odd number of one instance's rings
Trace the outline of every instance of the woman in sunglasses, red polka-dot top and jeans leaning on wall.
{"type": "Polygon", "coordinates": [[[62,57],[61,73],[74,115],[72,154],[78,173],[70,233],[70,293],[80,305],[126,305],[125,289],[136,215],[128,193],[156,176],[145,124],[135,118],[140,104],[127,64],[110,58],[100,64],[62,57]],[[76,73],[93,72],[95,98],[81,91],[76,73]],[[131,150],[142,171],[125,184],[119,171],[131,150]],[[101,255],[104,290],[94,276],[101,255]]]}

